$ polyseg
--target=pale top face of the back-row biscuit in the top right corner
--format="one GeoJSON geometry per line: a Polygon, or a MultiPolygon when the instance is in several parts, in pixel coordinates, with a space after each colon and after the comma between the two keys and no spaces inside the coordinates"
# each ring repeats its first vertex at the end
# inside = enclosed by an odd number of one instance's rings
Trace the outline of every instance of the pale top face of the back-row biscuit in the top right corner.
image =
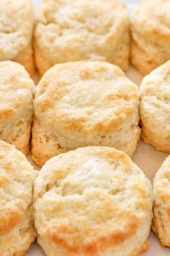
{"type": "MultiPolygon", "coordinates": [[[[161,40],[170,40],[170,1],[143,0],[132,15],[133,27],[138,33],[161,40]]],[[[151,38],[150,38],[151,39],[151,38]]],[[[168,46],[168,45],[167,45],[168,46]]]]}

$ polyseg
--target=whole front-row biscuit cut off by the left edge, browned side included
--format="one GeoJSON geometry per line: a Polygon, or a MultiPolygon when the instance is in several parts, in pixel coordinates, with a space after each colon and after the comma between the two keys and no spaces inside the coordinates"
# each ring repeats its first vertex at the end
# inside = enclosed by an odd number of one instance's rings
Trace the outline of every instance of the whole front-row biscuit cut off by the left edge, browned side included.
{"type": "Polygon", "coordinates": [[[35,239],[32,216],[35,176],[24,155],[0,140],[1,256],[22,256],[35,239]]]}

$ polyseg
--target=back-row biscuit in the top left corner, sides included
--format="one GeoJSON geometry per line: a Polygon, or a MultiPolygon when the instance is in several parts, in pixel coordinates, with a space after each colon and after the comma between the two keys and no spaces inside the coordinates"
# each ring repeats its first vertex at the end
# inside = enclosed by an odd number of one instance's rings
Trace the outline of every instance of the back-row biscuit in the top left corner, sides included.
{"type": "Polygon", "coordinates": [[[32,75],[34,12],[31,0],[0,1],[0,61],[17,61],[32,75]]]}

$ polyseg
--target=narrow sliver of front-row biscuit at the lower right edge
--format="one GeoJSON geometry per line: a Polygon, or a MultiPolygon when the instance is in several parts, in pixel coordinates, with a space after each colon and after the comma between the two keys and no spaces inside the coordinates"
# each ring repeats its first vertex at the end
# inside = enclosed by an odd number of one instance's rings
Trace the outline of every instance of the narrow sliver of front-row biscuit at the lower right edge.
{"type": "Polygon", "coordinates": [[[170,247],[170,155],[153,181],[153,231],[161,244],[170,247]]]}

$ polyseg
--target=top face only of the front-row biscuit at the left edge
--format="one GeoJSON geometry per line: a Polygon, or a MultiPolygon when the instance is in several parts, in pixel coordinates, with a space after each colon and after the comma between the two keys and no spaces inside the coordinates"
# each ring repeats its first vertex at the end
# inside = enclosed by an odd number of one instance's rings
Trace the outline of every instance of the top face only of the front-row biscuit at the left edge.
{"type": "Polygon", "coordinates": [[[0,140],[0,236],[14,228],[32,202],[35,171],[14,146],[0,140]]]}

